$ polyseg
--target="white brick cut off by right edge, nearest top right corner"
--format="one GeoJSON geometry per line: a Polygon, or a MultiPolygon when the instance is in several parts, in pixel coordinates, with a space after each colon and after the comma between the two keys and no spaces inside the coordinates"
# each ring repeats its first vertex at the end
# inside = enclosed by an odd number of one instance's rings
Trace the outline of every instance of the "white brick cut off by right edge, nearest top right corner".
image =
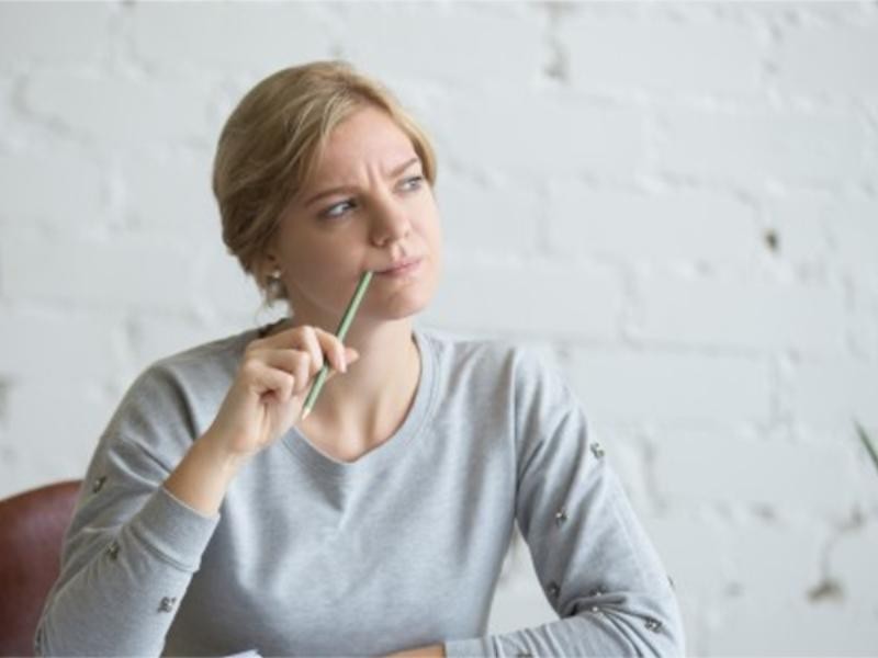
{"type": "Polygon", "coordinates": [[[867,24],[788,26],[776,66],[775,87],[785,94],[878,97],[878,16],[873,12],[867,24]]]}

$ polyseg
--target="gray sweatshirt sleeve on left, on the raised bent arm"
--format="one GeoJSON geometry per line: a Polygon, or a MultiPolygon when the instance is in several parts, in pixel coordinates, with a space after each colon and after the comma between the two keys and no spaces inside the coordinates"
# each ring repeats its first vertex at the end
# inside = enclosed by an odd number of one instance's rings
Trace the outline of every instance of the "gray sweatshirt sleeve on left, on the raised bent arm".
{"type": "Polygon", "coordinates": [[[149,370],[132,385],[88,467],[37,656],[158,656],[218,523],[162,483],[192,442],[179,386],[149,370]]]}

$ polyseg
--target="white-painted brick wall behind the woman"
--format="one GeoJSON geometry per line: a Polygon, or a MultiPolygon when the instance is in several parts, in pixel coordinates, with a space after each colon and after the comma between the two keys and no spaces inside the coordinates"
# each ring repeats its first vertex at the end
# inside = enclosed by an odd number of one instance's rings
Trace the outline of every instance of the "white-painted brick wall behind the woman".
{"type": "MultiPolygon", "coordinates": [[[[434,134],[425,321],[563,368],[690,653],[874,654],[875,2],[0,3],[0,496],[80,476],[155,359],[274,317],[213,149],[335,56],[434,134]]],[[[492,631],[551,619],[515,543],[492,631]]]]}

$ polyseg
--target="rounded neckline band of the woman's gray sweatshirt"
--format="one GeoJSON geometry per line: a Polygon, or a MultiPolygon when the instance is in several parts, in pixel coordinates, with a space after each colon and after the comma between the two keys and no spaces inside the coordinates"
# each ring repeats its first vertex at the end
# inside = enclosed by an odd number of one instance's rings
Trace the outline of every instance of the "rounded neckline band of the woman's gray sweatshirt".
{"type": "Polygon", "coordinates": [[[396,431],[386,441],[360,455],[356,461],[341,462],[320,451],[299,428],[293,426],[279,441],[297,462],[317,470],[323,476],[339,479],[361,477],[383,470],[405,454],[413,441],[423,434],[436,399],[435,352],[428,338],[419,328],[413,327],[412,336],[420,352],[420,377],[408,413],[396,431]]]}

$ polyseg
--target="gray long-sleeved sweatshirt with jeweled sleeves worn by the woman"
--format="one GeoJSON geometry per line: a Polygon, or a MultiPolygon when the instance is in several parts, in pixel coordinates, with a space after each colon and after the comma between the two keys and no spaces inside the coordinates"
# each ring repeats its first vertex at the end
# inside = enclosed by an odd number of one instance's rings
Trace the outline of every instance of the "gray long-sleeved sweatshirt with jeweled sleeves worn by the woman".
{"type": "Polygon", "coordinates": [[[219,513],[162,483],[216,416],[251,329],[159,360],[91,460],[37,655],[675,656],[668,576],[582,406],[527,347],[415,327],[408,416],[352,463],[297,429],[219,513]],[[558,621],[487,635],[514,523],[558,621]]]}

